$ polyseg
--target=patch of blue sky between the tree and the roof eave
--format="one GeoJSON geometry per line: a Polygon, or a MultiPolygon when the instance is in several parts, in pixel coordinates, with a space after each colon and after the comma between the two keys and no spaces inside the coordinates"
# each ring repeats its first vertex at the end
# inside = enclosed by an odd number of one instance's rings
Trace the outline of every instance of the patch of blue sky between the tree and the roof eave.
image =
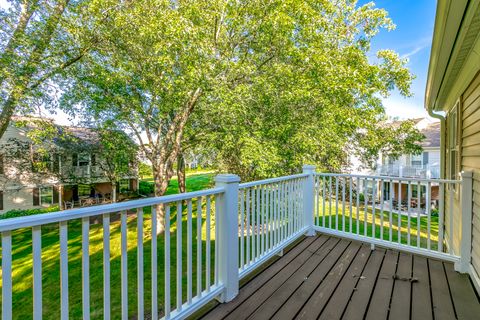
{"type": "MultiPolygon", "coordinates": [[[[369,1],[359,1],[364,4],[369,1]]],[[[404,98],[398,92],[384,99],[390,116],[413,118],[427,116],[423,105],[428,61],[435,21],[435,0],[379,0],[376,7],[384,8],[397,28],[380,32],[372,42],[372,51],[393,49],[409,58],[408,67],[417,77],[412,83],[413,97],[404,98]]]]}

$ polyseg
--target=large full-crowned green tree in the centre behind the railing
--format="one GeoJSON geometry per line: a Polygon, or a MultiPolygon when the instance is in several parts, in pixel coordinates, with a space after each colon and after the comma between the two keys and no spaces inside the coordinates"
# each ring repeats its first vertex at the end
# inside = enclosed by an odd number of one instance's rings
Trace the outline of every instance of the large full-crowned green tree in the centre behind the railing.
{"type": "Polygon", "coordinates": [[[350,0],[123,2],[95,25],[99,45],[65,78],[63,106],[135,136],[158,196],[192,143],[243,178],[338,169],[352,141],[376,132],[380,95],[410,94],[397,54],[368,58],[371,38],[393,27],[350,0]]]}

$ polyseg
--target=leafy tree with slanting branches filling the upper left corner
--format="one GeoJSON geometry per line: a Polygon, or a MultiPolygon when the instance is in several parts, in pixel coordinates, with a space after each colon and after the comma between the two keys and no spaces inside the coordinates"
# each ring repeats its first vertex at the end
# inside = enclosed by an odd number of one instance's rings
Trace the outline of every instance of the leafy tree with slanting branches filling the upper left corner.
{"type": "Polygon", "coordinates": [[[92,26],[115,8],[112,3],[100,12],[97,2],[9,0],[0,6],[0,138],[14,114],[54,106],[61,89],[52,78],[98,44],[92,26]]]}

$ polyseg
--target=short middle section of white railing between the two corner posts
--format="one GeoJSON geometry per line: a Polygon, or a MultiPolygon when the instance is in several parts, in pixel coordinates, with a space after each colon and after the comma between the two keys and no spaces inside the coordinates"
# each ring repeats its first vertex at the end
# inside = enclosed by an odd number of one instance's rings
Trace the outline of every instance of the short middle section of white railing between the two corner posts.
{"type": "Polygon", "coordinates": [[[240,185],[240,278],[305,232],[304,185],[308,174],[240,185]]]}

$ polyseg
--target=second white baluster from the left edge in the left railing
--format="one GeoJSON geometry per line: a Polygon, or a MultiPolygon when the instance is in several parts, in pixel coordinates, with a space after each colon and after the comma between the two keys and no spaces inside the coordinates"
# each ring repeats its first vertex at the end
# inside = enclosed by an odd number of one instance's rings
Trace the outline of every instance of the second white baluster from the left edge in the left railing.
{"type": "Polygon", "coordinates": [[[33,251],[33,319],[42,319],[42,229],[32,228],[33,251]]]}

